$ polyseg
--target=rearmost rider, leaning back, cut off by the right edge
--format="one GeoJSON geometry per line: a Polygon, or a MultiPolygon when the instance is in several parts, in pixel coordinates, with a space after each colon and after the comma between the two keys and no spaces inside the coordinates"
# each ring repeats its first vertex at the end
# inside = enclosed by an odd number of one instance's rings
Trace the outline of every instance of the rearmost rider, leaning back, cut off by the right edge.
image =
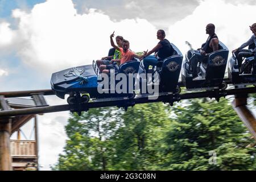
{"type": "Polygon", "coordinates": [[[243,57],[252,57],[255,55],[256,52],[256,23],[252,24],[250,27],[250,30],[253,32],[253,35],[247,42],[243,43],[240,47],[234,49],[232,52],[235,53],[238,61],[238,67],[241,68],[243,57]],[[251,44],[254,44],[254,48],[249,49],[243,49],[247,46],[250,46],[251,44]]]}

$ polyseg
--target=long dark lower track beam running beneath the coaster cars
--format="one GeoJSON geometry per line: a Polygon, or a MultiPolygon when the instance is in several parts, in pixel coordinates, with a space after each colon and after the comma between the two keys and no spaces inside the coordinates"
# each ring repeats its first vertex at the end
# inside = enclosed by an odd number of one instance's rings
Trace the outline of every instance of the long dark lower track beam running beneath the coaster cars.
{"type": "Polygon", "coordinates": [[[42,113],[52,113],[59,111],[87,111],[90,108],[96,107],[109,107],[109,106],[118,106],[118,107],[128,107],[133,106],[135,104],[143,104],[150,102],[164,102],[173,104],[174,102],[178,102],[180,100],[186,100],[191,98],[216,98],[218,100],[220,97],[225,97],[229,95],[236,94],[248,94],[248,93],[256,93],[256,88],[238,88],[238,89],[230,89],[230,90],[215,90],[215,91],[206,91],[206,92],[196,92],[196,93],[185,93],[180,95],[174,94],[166,94],[159,96],[156,100],[148,100],[148,97],[138,97],[134,99],[124,100],[111,100],[108,101],[99,101],[99,102],[88,102],[86,104],[81,105],[56,105],[56,106],[44,106],[44,107],[34,107],[27,109],[15,109],[8,111],[0,111],[0,118],[4,117],[13,117],[17,115],[28,115],[28,114],[42,114],[42,113]]]}

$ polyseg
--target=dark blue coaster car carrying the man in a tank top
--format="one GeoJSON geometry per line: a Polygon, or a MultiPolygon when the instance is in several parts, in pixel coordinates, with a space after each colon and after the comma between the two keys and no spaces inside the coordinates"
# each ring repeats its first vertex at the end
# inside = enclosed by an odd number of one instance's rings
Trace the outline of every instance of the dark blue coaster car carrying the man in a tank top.
{"type": "Polygon", "coordinates": [[[190,61],[186,55],[181,71],[181,80],[187,89],[226,89],[227,84],[223,81],[226,64],[228,61],[228,48],[219,42],[220,49],[210,53],[205,63],[197,67],[199,77],[193,79],[190,61]]]}

